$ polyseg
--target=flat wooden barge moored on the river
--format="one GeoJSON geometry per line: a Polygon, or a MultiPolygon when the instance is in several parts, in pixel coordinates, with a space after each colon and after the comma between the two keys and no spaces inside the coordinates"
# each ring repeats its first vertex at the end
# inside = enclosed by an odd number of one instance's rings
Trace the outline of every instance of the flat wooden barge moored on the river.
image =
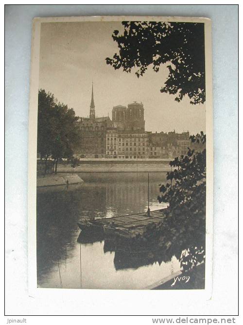
{"type": "Polygon", "coordinates": [[[84,219],[78,222],[83,232],[95,232],[109,236],[133,238],[142,235],[148,225],[158,225],[166,217],[165,209],[116,216],[102,219],[84,219]]]}

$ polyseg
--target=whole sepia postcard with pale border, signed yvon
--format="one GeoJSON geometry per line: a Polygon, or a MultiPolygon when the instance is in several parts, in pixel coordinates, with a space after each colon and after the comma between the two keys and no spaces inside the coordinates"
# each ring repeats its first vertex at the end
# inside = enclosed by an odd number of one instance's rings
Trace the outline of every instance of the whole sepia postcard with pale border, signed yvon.
{"type": "Polygon", "coordinates": [[[34,19],[30,292],[209,294],[211,79],[207,18],[34,19]]]}

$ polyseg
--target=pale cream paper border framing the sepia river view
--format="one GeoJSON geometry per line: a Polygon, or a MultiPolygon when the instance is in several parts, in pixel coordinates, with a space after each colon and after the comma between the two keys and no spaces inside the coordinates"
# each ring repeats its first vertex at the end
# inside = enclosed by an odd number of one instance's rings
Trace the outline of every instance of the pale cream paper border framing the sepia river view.
{"type": "MultiPolygon", "coordinates": [[[[206,51],[206,130],[207,130],[207,212],[206,212],[206,281],[205,290],[172,290],[159,291],[160,299],[189,298],[208,300],[212,290],[212,211],[213,211],[213,129],[212,129],[212,71],[211,71],[211,22],[208,18],[197,17],[161,17],[161,16],[83,16],[83,17],[47,17],[35,18],[33,22],[32,36],[32,62],[31,62],[31,88],[30,88],[30,110],[29,110],[29,162],[28,162],[28,268],[29,268],[29,294],[32,297],[43,295],[67,294],[72,292],[78,299],[88,296],[91,292],[96,295],[113,295],[108,290],[80,290],[80,289],[40,289],[36,287],[36,134],[37,134],[37,94],[39,75],[39,45],[40,25],[42,22],[76,22],[76,21],[122,21],[122,20],[150,20],[150,21],[183,21],[205,23],[205,51],[206,51]]],[[[124,292],[119,291],[120,295],[124,292]]],[[[130,296],[141,291],[126,291],[130,296]]],[[[142,294],[142,293],[139,293],[142,294]]],[[[156,296],[155,291],[149,293],[151,297],[156,296]]],[[[107,314],[108,310],[101,310],[107,314]]],[[[119,314],[119,309],[113,309],[112,314],[119,314]],[[114,313],[115,312],[115,313],[114,313]]],[[[146,310],[145,310],[146,314],[146,310]]]]}

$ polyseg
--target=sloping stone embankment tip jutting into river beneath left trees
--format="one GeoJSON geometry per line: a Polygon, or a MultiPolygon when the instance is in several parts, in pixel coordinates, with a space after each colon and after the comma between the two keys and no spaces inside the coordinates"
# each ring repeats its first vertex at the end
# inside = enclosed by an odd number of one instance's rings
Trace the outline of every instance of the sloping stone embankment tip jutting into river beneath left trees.
{"type": "Polygon", "coordinates": [[[80,184],[83,182],[78,175],[70,174],[52,174],[37,177],[36,186],[37,187],[50,187],[50,186],[62,186],[62,185],[72,185],[80,184]]]}

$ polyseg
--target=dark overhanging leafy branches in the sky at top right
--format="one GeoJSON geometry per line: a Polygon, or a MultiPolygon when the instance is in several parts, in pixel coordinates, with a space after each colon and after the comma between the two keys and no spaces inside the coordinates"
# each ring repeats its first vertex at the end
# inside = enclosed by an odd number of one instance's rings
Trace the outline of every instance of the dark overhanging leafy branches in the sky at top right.
{"type": "Polygon", "coordinates": [[[161,64],[168,64],[169,75],[162,93],[185,95],[191,104],[205,102],[205,48],[204,24],[183,22],[123,21],[123,34],[114,31],[119,54],[106,58],[115,69],[131,72],[135,67],[139,78],[153,66],[159,71],[161,64]]]}

